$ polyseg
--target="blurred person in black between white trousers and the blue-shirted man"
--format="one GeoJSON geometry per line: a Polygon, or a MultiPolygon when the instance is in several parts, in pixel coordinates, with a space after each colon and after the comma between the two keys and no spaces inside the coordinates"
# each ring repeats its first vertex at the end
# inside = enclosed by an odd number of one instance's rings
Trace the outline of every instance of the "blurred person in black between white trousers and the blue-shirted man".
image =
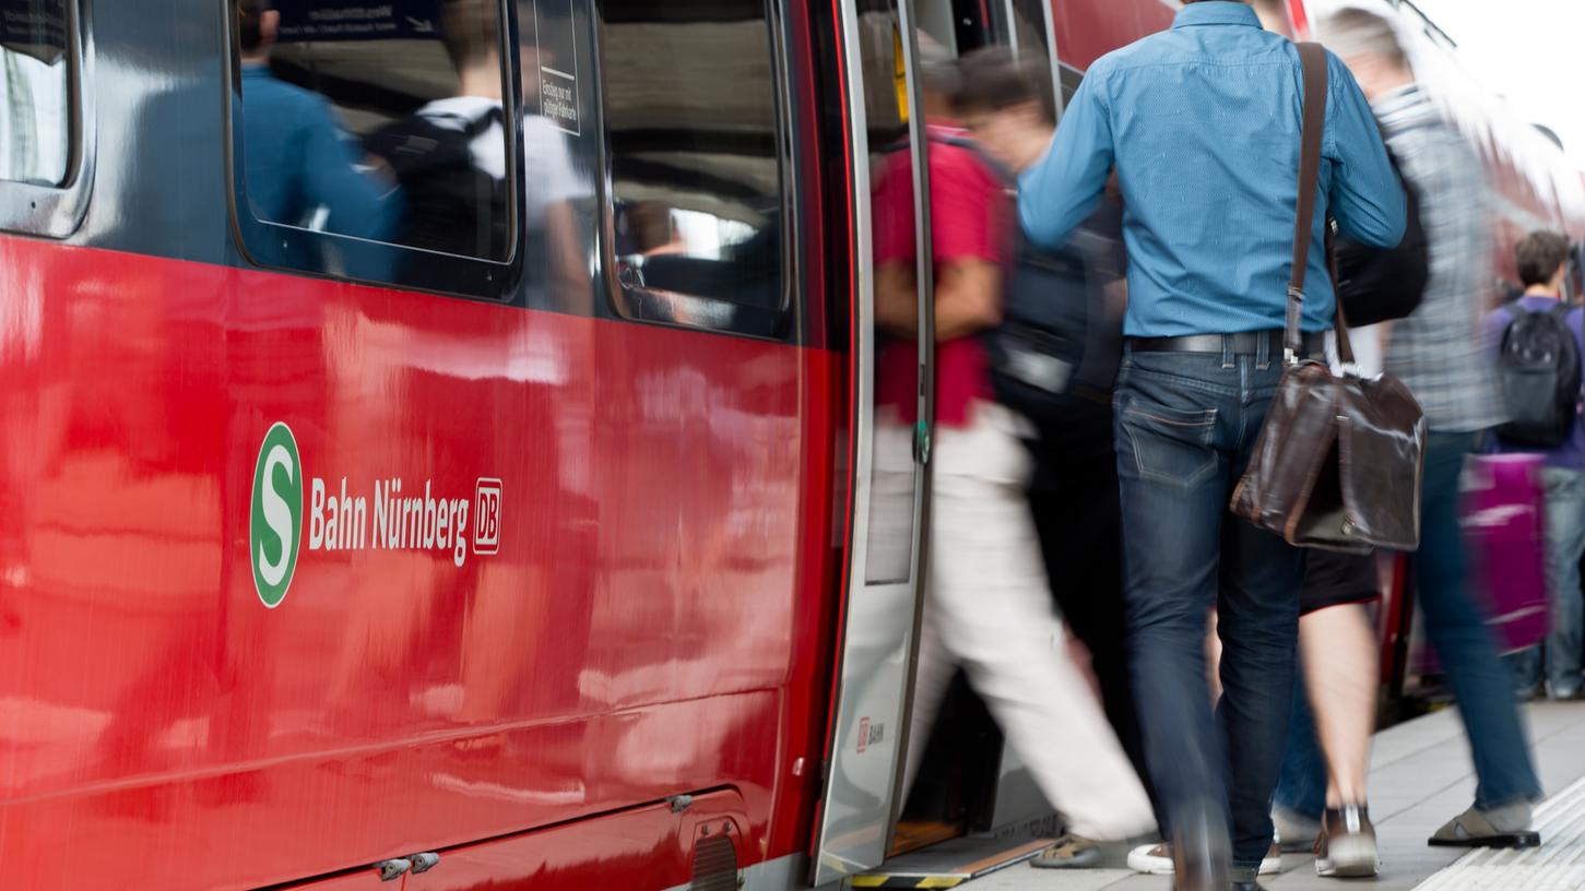
{"type": "MultiPolygon", "coordinates": [[[[1016,176],[1046,152],[1056,132],[1051,67],[1006,48],[962,63],[959,109],[975,141],[1016,176]]],[[[1059,250],[1018,239],[1006,319],[991,336],[997,400],[1035,425],[1029,501],[1057,609],[1090,655],[1106,718],[1135,771],[1146,775],[1138,710],[1129,685],[1122,607],[1122,525],[1111,387],[1127,308],[1122,205],[1108,201],[1059,250]]],[[[1149,790],[1146,790],[1149,791],[1149,790]]],[[[1094,840],[1059,839],[1037,867],[1086,866],[1094,840]]]]}

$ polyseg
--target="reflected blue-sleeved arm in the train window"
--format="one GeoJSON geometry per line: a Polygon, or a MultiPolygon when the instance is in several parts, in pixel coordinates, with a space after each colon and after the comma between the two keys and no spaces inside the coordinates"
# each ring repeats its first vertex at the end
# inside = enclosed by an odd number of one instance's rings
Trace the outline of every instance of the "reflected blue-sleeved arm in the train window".
{"type": "Polygon", "coordinates": [[[382,198],[395,190],[377,176],[366,176],[353,166],[357,155],[342,140],[341,127],[330,109],[311,103],[303,120],[303,182],[309,206],[330,209],[325,228],[360,238],[387,238],[395,214],[382,198]]]}

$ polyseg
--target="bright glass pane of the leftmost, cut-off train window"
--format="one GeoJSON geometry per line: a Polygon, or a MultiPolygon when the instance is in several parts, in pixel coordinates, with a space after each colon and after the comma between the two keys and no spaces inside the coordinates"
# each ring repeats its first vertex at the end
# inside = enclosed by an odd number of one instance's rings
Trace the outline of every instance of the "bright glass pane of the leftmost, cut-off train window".
{"type": "Polygon", "coordinates": [[[71,162],[67,0],[0,0],[0,179],[62,185],[71,162]]]}

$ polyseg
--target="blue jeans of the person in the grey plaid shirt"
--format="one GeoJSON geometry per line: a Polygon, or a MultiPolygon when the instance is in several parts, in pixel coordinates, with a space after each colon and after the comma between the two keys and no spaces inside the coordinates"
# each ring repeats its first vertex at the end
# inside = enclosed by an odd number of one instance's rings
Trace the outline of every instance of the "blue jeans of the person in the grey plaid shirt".
{"type": "Polygon", "coordinates": [[[1420,550],[1412,560],[1425,633],[1469,737],[1479,780],[1476,807],[1490,809],[1539,797],[1541,782],[1514,704],[1512,674],[1499,660],[1485,615],[1466,585],[1458,477],[1472,446],[1472,433],[1430,434],[1420,493],[1420,550]]]}

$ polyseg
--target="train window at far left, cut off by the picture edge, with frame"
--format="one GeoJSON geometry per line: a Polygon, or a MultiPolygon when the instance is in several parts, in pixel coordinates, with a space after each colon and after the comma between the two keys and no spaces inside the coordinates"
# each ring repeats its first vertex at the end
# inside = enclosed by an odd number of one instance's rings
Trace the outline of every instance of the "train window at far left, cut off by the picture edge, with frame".
{"type": "Polygon", "coordinates": [[[63,238],[87,211],[81,24],[78,0],[0,0],[0,228],[63,238]]]}

